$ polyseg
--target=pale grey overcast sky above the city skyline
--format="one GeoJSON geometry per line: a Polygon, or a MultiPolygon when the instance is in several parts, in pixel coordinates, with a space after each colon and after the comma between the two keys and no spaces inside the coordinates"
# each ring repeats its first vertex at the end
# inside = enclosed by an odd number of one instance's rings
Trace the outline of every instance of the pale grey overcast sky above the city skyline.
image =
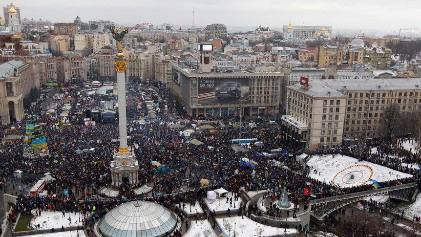
{"type": "MultiPolygon", "coordinates": [[[[4,1],[3,4],[5,5],[4,1]]],[[[282,27],[330,25],[341,29],[420,27],[420,0],[14,0],[21,18],[73,22],[110,20],[191,25],[282,27]]]]}

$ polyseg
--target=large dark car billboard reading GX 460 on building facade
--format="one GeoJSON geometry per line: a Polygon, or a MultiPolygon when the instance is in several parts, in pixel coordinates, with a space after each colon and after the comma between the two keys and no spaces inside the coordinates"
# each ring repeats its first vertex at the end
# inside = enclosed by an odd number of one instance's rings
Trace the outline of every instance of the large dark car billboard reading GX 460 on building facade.
{"type": "Polygon", "coordinates": [[[198,80],[198,104],[233,104],[249,98],[249,78],[198,80]]]}

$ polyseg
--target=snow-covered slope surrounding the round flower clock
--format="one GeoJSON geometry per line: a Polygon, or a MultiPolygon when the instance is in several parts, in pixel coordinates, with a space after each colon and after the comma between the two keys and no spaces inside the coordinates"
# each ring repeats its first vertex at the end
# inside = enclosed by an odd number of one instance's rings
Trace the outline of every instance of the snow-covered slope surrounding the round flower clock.
{"type": "MultiPolygon", "coordinates": [[[[364,165],[364,166],[371,167],[371,169],[373,170],[372,179],[377,180],[378,182],[395,180],[397,178],[397,175],[399,175],[398,178],[406,178],[406,177],[412,176],[410,174],[395,171],[395,170],[392,170],[392,169],[389,169],[384,166],[380,166],[371,162],[367,162],[367,161],[358,162],[358,159],[355,159],[349,156],[340,155],[340,154],[336,154],[335,157],[333,157],[333,155],[322,155],[322,156],[314,155],[309,159],[309,161],[307,162],[307,165],[312,166],[313,170],[316,169],[318,171],[317,173],[310,171],[310,176],[312,178],[315,178],[320,181],[325,181],[326,183],[329,183],[330,181],[332,181],[338,172],[343,171],[344,169],[347,169],[348,167],[353,166],[353,165],[364,165]],[[319,172],[320,172],[320,175],[319,175],[319,172]]],[[[369,179],[366,177],[367,174],[365,173],[368,171],[369,169],[366,169],[364,171],[364,173],[362,174],[363,176],[361,177],[361,180],[369,179]]],[[[349,173],[349,170],[345,170],[341,172],[340,174],[347,175],[348,173],[349,173]]],[[[355,174],[356,176],[358,176],[359,172],[357,171],[355,172],[355,174]]],[[[368,184],[371,184],[371,183],[372,183],[371,181],[368,182],[368,184]]],[[[352,187],[352,186],[360,185],[360,183],[358,182],[352,183],[351,181],[346,184],[344,182],[340,182],[336,184],[339,185],[340,187],[345,187],[345,186],[352,187]]]]}

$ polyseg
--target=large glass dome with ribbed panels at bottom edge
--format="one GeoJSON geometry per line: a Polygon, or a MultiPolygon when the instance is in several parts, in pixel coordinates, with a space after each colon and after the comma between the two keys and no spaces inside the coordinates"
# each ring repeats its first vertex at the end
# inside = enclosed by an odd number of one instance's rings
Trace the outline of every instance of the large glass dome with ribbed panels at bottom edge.
{"type": "Polygon", "coordinates": [[[106,237],[161,237],[171,233],[177,217],[167,208],[147,201],[123,203],[103,216],[98,227],[106,237]]]}

